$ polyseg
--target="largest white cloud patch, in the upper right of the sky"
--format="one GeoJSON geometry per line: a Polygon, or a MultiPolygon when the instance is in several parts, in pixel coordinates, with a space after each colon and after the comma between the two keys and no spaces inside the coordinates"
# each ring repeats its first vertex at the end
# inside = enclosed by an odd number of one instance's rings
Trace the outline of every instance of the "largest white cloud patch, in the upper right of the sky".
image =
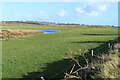
{"type": "Polygon", "coordinates": [[[106,11],[107,8],[108,8],[108,4],[88,3],[88,4],[84,4],[83,7],[75,8],[75,11],[80,15],[93,17],[93,16],[98,16],[102,12],[106,11]]]}

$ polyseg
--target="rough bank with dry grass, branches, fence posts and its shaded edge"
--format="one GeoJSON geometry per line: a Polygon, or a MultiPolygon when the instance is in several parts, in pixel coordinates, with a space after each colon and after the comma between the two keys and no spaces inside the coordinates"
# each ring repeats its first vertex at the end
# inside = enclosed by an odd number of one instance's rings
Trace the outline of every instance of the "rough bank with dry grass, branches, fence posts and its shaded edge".
{"type": "MultiPolygon", "coordinates": [[[[68,69],[64,80],[71,78],[74,80],[81,80],[81,78],[83,80],[119,80],[119,49],[120,43],[116,39],[91,49],[94,50],[93,52],[89,50],[84,55],[77,52],[76,57],[70,57],[74,67],[71,67],[71,70],[68,69]]],[[[75,52],[68,51],[68,53],[68,56],[75,55],[75,52]]]]}

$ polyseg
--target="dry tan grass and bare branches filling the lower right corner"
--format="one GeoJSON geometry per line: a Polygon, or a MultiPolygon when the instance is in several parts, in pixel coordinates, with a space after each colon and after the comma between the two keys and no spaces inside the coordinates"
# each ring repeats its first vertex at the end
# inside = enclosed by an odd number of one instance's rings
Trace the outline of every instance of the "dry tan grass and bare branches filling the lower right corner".
{"type": "MultiPolygon", "coordinates": [[[[65,73],[63,80],[88,80],[88,79],[102,79],[102,80],[117,80],[120,78],[119,73],[119,55],[120,55],[120,44],[116,43],[113,49],[110,46],[109,54],[100,54],[96,59],[89,62],[89,59],[85,57],[83,53],[85,65],[81,65],[80,59],[73,57],[74,52],[68,51],[67,55],[73,60],[74,65],[69,73],[65,73]],[[77,68],[76,68],[77,67],[77,68]]],[[[91,56],[94,57],[93,51],[91,51],[91,56]]],[[[81,53],[80,53],[81,54],[81,53]]]]}

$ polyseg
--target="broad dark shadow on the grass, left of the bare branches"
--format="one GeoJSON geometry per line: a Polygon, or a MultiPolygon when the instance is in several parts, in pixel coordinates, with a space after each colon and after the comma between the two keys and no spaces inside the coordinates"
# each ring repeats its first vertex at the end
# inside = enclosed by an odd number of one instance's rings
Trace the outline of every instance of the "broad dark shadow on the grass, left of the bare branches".
{"type": "Polygon", "coordinates": [[[38,70],[37,72],[27,73],[28,75],[23,75],[22,79],[31,80],[39,78],[40,80],[40,77],[44,77],[45,80],[61,79],[63,78],[64,73],[69,71],[72,66],[73,63],[70,59],[63,59],[57,62],[47,63],[47,66],[42,68],[44,70],[43,72],[38,70]]]}

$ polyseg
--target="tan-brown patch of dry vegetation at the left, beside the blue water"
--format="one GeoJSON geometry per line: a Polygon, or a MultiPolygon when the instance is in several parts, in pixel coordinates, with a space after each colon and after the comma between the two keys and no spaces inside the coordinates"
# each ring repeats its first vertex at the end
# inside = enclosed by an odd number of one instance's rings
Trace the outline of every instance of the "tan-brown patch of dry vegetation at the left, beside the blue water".
{"type": "Polygon", "coordinates": [[[0,29],[0,40],[19,39],[23,37],[34,36],[40,33],[43,32],[25,29],[0,29]]]}

